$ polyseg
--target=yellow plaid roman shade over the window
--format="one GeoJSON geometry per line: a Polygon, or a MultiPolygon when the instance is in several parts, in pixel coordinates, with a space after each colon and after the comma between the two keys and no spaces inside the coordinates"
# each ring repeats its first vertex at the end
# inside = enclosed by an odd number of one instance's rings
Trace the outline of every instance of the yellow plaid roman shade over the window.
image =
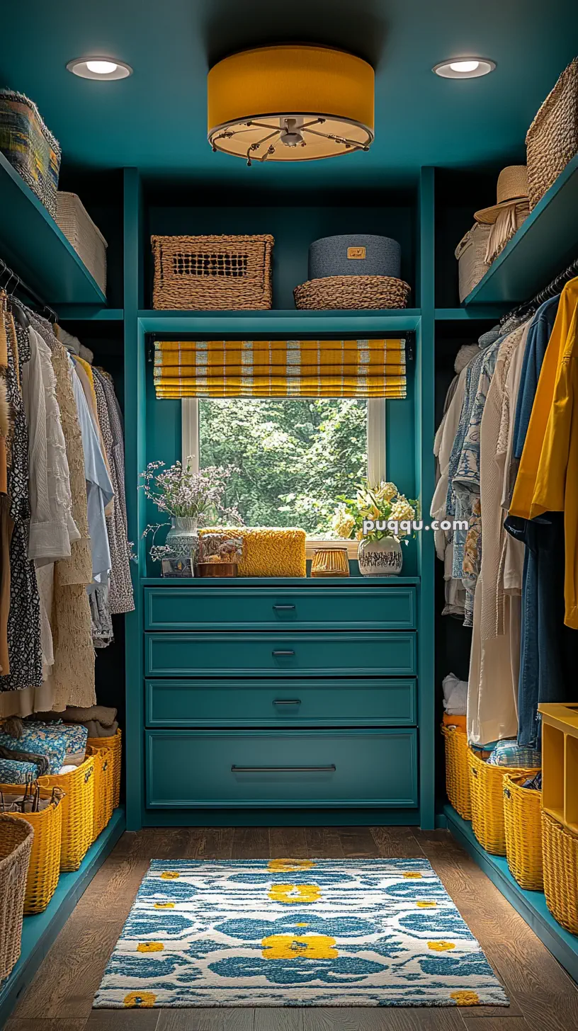
{"type": "Polygon", "coordinates": [[[158,398],[406,397],[405,340],[160,340],[158,398]]]}

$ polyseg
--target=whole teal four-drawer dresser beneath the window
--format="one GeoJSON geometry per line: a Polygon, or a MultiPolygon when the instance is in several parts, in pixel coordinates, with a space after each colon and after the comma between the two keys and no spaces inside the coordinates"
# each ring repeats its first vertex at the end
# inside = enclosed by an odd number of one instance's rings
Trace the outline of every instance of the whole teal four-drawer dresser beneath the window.
{"type": "Polygon", "coordinates": [[[143,590],[152,817],[363,808],[417,822],[417,580],[143,590]]]}

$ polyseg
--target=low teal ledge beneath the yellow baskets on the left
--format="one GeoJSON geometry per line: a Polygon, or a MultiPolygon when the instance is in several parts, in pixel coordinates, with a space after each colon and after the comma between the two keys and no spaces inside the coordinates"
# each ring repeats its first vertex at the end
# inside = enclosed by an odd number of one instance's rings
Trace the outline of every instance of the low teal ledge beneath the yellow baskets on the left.
{"type": "Polygon", "coordinates": [[[0,1028],[17,1004],[19,996],[30,985],[98,867],[124,833],[125,826],[124,808],[115,809],[110,822],[89,849],[79,869],[60,874],[57,890],[44,912],[24,918],[20,959],[10,975],[0,985],[0,1028]]]}

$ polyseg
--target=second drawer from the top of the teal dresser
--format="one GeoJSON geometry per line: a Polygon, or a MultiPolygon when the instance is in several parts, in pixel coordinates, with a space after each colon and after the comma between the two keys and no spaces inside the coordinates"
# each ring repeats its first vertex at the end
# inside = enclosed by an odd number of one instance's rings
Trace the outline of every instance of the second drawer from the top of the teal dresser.
{"type": "Polygon", "coordinates": [[[412,676],[413,633],[146,634],[147,676],[412,676]]]}

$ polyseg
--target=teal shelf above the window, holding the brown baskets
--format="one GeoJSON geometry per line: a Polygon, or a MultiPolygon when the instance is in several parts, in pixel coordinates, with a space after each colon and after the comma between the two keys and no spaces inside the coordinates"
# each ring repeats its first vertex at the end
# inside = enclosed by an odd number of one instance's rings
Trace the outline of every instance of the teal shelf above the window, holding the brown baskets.
{"type": "Polygon", "coordinates": [[[388,333],[415,330],[421,311],[139,311],[138,320],[146,333],[388,333]]]}

